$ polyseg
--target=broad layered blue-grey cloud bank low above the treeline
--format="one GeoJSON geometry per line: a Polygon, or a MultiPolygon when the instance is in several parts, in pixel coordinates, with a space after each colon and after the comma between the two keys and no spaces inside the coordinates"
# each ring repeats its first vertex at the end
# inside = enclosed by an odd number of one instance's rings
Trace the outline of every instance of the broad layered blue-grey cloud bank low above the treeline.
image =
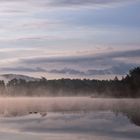
{"type": "MultiPolygon", "coordinates": [[[[43,67],[48,73],[69,74],[80,76],[92,75],[125,75],[128,71],[138,65],[140,50],[119,51],[100,53],[98,55],[82,55],[69,57],[42,57],[20,59],[20,64],[31,67],[43,67]],[[125,62],[118,58],[131,58],[133,62],[125,62]],[[135,63],[136,62],[136,63],[135,63]]],[[[44,69],[43,69],[44,70],[44,69]]]]}

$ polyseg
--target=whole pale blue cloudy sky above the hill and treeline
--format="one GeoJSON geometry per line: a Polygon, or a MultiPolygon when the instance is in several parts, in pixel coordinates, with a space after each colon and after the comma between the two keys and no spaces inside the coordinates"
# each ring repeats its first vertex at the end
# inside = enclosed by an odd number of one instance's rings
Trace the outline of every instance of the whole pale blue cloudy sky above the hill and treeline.
{"type": "Polygon", "coordinates": [[[140,0],[0,0],[0,74],[121,77],[140,66],[140,0]]]}

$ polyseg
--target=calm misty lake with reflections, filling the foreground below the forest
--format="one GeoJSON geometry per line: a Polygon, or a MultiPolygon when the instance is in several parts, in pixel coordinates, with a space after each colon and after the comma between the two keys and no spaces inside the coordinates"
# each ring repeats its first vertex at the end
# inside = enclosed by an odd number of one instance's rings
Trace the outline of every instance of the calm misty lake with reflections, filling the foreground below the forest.
{"type": "Polygon", "coordinates": [[[1,98],[2,140],[139,140],[139,99],[1,98]]]}

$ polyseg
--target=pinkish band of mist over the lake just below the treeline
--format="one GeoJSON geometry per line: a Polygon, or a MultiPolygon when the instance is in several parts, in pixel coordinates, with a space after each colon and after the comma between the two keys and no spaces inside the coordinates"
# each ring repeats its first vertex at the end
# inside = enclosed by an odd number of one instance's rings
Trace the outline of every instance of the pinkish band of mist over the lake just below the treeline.
{"type": "Polygon", "coordinates": [[[140,99],[111,99],[92,97],[17,97],[0,98],[0,114],[27,115],[29,112],[66,112],[136,109],[140,99]]]}

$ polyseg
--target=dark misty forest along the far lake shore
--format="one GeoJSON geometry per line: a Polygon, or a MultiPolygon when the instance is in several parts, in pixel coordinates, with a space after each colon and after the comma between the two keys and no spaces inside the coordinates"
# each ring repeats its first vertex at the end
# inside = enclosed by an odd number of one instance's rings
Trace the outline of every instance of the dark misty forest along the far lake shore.
{"type": "Polygon", "coordinates": [[[8,83],[0,81],[1,96],[90,96],[138,98],[140,97],[140,67],[113,80],[58,79],[37,81],[12,79],[8,83]]]}

